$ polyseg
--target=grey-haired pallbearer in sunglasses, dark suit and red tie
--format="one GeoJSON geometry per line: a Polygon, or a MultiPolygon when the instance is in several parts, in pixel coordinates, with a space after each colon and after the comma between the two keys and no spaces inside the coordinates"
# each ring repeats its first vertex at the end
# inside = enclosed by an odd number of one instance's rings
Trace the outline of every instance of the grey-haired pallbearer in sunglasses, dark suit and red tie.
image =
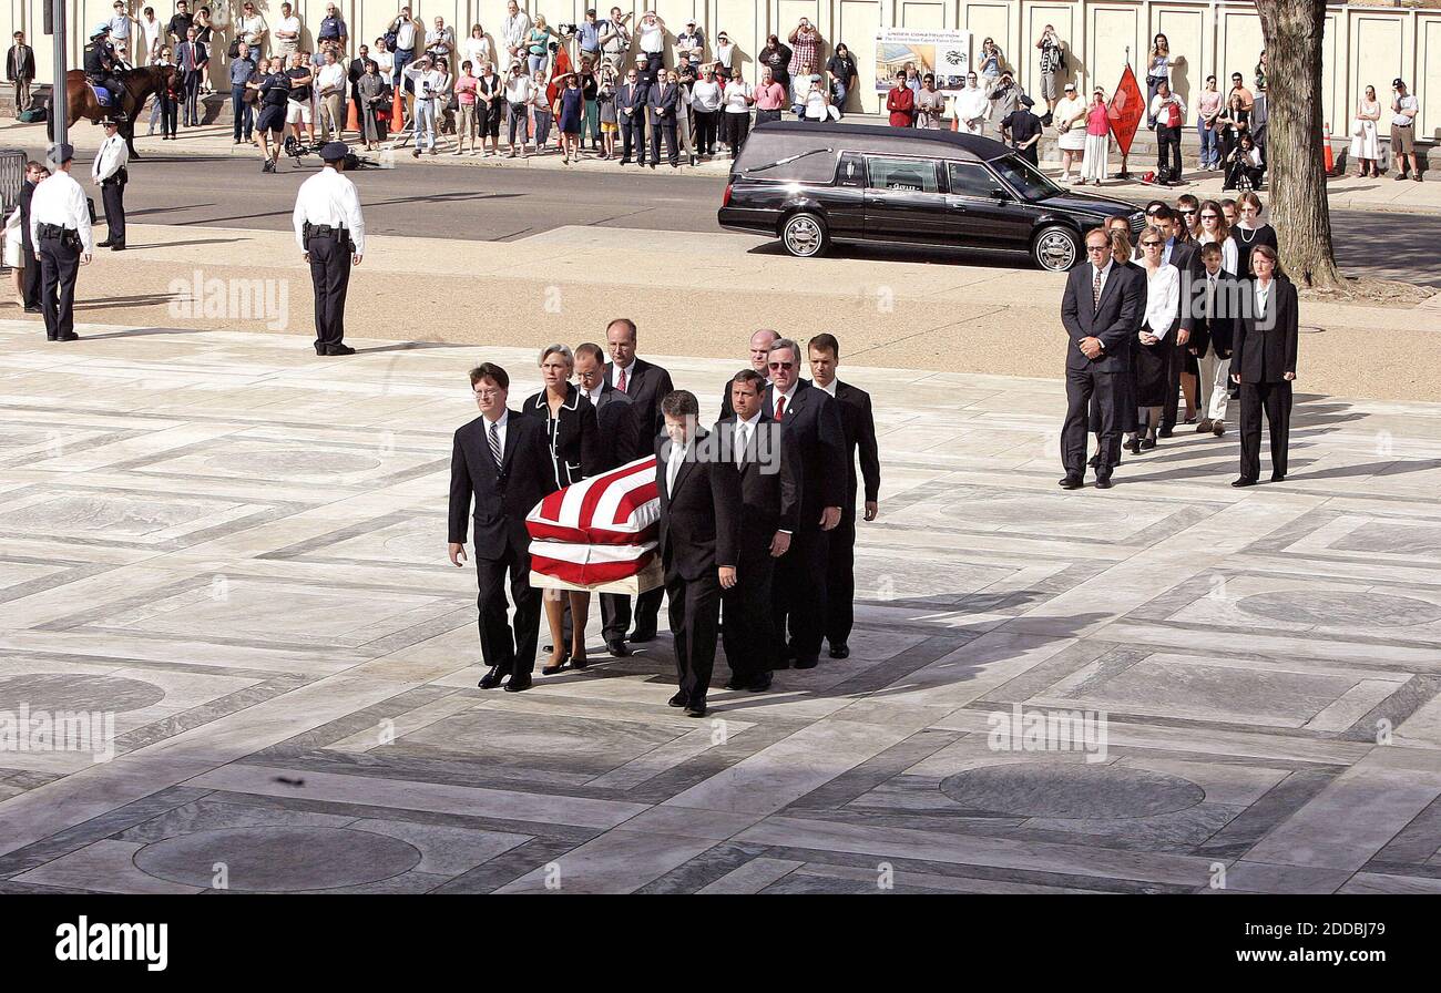
{"type": "Polygon", "coordinates": [[[830,533],[846,503],[846,429],[830,393],[800,378],[801,347],[795,342],[777,339],[769,366],[765,412],[780,421],[801,455],[801,519],[771,591],[777,651],[794,659],[797,669],[814,669],[826,636],[830,533]]]}

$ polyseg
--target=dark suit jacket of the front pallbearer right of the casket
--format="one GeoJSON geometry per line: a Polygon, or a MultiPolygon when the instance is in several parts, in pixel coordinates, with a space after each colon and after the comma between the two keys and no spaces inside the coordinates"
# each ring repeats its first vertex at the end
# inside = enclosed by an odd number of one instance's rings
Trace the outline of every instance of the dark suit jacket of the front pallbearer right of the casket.
{"type": "MultiPolygon", "coordinates": [[[[696,434],[695,442],[708,438],[696,434]]],[[[695,451],[695,442],[692,451],[695,451]]],[[[669,438],[656,440],[656,490],[660,494],[660,555],[667,582],[700,579],[718,566],[736,565],[741,525],[741,476],[735,466],[712,458],[687,458],[676,476],[676,491],[666,486],[669,438]]]]}

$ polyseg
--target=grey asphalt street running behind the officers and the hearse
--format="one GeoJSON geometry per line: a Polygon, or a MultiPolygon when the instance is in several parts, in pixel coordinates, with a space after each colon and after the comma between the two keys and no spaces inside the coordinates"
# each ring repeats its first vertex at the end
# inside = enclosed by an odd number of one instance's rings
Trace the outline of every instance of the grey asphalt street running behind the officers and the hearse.
{"type": "MultiPolygon", "coordinates": [[[[277,176],[262,174],[255,159],[147,157],[131,170],[125,193],[131,221],[195,223],[216,228],[285,231],[295,190],[318,163],[297,169],[290,160],[277,176]]],[[[565,225],[602,225],[644,231],[716,232],[720,179],[670,176],[627,167],[621,172],[550,169],[406,167],[353,174],[362,190],[366,223],[380,235],[437,235],[476,241],[526,238],[565,225]]],[[[97,197],[98,200],[98,197],[97,197]]],[[[1336,212],[1337,258],[1347,272],[1404,280],[1441,288],[1435,245],[1441,216],[1336,212]]],[[[643,233],[638,236],[644,236],[643,233]]],[[[852,254],[914,261],[915,252],[849,248],[852,254]]],[[[984,264],[974,252],[955,257],[984,264]]],[[[1016,267],[1016,255],[994,264],[1016,267]]]]}

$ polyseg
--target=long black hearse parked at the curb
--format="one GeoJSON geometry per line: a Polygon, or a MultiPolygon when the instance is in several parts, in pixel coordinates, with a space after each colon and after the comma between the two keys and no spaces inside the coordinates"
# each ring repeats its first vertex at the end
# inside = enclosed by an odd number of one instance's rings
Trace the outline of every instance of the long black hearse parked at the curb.
{"type": "Polygon", "coordinates": [[[1050,182],[1010,148],[953,131],[777,121],[751,131],[719,222],[775,235],[791,255],[831,242],[1027,252],[1053,272],[1082,257],[1084,232],[1141,210],[1050,182]]]}

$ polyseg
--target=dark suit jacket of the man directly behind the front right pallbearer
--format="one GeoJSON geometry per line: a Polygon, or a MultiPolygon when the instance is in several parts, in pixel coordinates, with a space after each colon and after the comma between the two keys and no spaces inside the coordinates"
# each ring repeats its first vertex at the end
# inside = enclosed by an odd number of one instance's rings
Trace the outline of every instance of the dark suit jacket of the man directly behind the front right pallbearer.
{"type": "MultiPolygon", "coordinates": [[[[735,429],[732,414],[716,422],[712,435],[720,440],[720,451],[732,466],[738,460],[735,429]]],[[[769,555],[775,532],[795,533],[800,527],[801,454],[795,437],[762,411],[736,474],[741,477],[741,555],[769,555]]]]}

